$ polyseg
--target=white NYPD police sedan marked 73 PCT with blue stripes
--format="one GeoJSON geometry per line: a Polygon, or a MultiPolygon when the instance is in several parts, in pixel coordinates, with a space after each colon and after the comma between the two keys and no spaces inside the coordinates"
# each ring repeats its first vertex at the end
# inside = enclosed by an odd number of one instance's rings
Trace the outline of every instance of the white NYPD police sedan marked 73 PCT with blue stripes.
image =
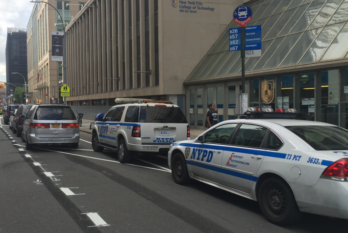
{"type": "Polygon", "coordinates": [[[237,119],[172,144],[178,184],[195,179],[258,201],[266,218],[300,212],[348,219],[348,130],[292,119],[237,119]]]}

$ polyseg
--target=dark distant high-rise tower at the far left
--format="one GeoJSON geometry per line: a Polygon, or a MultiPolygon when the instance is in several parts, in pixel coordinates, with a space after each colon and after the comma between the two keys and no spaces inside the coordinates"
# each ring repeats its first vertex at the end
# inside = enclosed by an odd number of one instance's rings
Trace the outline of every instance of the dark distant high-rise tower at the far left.
{"type": "Polygon", "coordinates": [[[14,93],[16,86],[27,82],[26,30],[7,28],[6,41],[6,95],[14,93]],[[24,78],[19,74],[24,76],[24,78]]]}

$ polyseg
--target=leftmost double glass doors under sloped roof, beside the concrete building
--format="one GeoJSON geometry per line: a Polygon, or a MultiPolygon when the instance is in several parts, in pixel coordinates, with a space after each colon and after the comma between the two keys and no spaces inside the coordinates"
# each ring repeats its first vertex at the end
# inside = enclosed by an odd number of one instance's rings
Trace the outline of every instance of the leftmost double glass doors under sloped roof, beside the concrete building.
{"type": "Polygon", "coordinates": [[[203,110],[203,86],[189,87],[189,125],[190,128],[204,129],[205,115],[203,110]]]}

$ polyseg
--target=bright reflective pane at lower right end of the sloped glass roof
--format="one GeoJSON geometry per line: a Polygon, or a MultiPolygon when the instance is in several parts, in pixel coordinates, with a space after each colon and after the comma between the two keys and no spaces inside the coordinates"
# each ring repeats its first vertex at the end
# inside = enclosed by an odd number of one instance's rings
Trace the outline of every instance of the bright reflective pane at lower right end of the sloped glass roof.
{"type": "Polygon", "coordinates": [[[341,32],[333,40],[328,50],[323,55],[321,61],[342,58],[348,51],[348,23],[342,28],[341,32]]]}

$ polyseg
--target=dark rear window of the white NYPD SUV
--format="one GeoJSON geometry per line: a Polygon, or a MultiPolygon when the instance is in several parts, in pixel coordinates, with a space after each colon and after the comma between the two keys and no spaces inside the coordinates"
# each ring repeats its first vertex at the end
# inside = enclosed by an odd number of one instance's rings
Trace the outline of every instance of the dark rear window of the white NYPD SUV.
{"type": "Polygon", "coordinates": [[[140,122],[146,123],[186,123],[179,107],[141,106],[140,122]]]}

